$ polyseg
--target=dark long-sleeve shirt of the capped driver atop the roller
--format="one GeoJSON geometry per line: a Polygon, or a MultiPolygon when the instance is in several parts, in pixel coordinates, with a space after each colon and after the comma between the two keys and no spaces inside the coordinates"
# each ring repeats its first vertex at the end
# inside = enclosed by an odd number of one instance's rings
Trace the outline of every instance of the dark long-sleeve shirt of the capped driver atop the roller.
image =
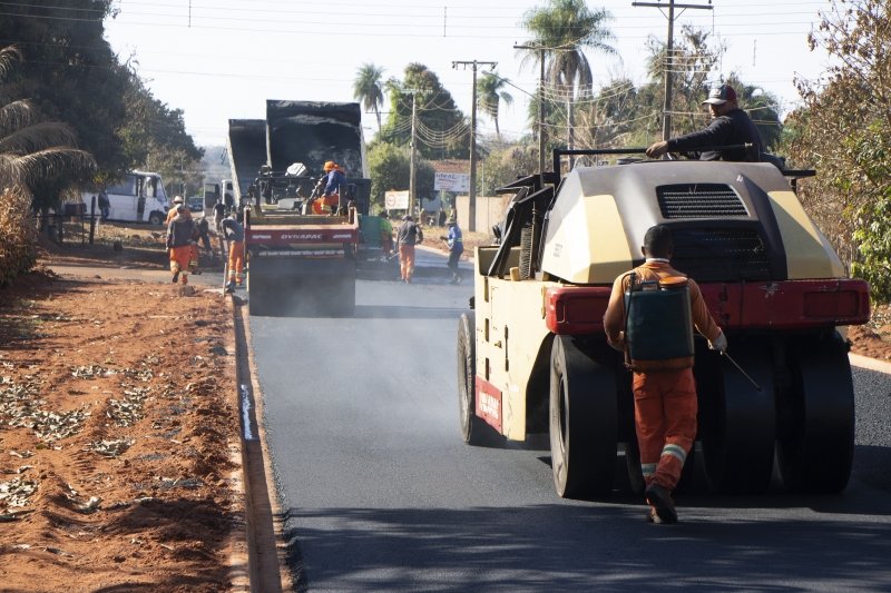
{"type": "Polygon", "coordinates": [[[707,128],[668,140],[669,152],[693,151],[706,147],[753,145],[752,149],[707,150],[699,155],[699,160],[736,160],[756,161],[764,149],[755,123],[742,109],[733,109],[726,115],[716,117],[707,128]]]}

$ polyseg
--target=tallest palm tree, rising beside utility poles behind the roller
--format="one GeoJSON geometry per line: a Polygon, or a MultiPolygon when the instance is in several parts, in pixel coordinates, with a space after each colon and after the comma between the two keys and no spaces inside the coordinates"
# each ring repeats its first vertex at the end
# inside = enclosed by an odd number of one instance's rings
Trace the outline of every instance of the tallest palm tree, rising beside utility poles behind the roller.
{"type": "Polygon", "coordinates": [[[531,52],[523,62],[546,60],[548,80],[566,101],[569,148],[575,144],[572,107],[579,98],[593,95],[594,77],[584,50],[616,52],[609,45],[615,36],[604,27],[611,18],[606,9],[589,9],[585,0],[550,0],[547,7],[527,12],[522,23],[533,36],[525,43],[531,52]]]}

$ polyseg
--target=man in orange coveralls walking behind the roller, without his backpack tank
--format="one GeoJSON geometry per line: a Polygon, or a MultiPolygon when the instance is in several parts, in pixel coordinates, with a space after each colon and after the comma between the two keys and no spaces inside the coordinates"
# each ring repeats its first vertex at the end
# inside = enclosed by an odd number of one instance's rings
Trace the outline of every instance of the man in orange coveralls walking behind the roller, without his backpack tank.
{"type": "MultiPolygon", "coordinates": [[[[616,278],[604,314],[607,342],[621,352],[627,348],[624,332],[625,291],[631,274],[642,281],[672,281],[666,278],[685,280],[684,275],[669,264],[674,240],[668,227],[657,225],[649,228],[642,250],[646,261],[616,278]]],[[[727,339],[708,313],[698,285],[688,278],[685,284],[689,289],[694,327],[708,338],[709,348],[724,352],[727,339]]],[[[631,360],[629,366],[634,377],[640,467],[646,482],[645,496],[650,506],[647,518],[654,523],[676,523],[677,511],[672,492],[681,480],[681,471],[696,437],[697,403],[693,356],[647,360],[646,365],[635,365],[631,360]]]]}

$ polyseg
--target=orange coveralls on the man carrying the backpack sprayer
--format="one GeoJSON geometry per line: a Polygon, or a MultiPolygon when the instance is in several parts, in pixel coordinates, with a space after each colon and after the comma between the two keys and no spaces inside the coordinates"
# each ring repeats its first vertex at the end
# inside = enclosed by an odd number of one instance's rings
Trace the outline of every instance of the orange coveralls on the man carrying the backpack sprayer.
{"type": "MultiPolygon", "coordinates": [[[[668,261],[656,258],[648,258],[634,273],[645,281],[684,276],[668,261]]],[[[604,314],[607,342],[618,350],[626,347],[624,295],[629,281],[628,274],[616,278],[604,314]]],[[[689,279],[687,286],[694,327],[709,342],[716,339],[721,329],[708,313],[698,285],[689,279]]],[[[637,444],[647,486],[655,483],[672,492],[696,438],[696,383],[692,358],[657,363],[649,362],[646,369],[631,368],[637,444]]]]}

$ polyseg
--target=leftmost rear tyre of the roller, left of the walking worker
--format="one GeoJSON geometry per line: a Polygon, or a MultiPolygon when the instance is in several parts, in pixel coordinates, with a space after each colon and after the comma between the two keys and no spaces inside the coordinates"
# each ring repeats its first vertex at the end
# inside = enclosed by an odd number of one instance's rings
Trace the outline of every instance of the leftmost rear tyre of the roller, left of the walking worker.
{"type": "Polygon", "coordinates": [[[618,432],[611,368],[582,353],[569,336],[555,338],[550,363],[550,455],[557,494],[607,494],[616,473],[618,432]]]}

